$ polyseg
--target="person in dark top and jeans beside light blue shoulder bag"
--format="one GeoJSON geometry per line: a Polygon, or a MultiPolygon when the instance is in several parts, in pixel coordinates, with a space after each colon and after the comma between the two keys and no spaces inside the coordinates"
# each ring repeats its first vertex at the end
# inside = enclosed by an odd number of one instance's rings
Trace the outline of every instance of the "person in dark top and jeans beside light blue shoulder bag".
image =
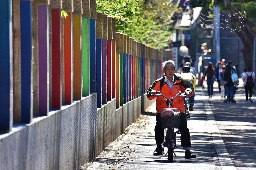
{"type": "Polygon", "coordinates": [[[223,75],[228,102],[234,101],[234,83],[232,82],[232,79],[231,79],[232,70],[235,71],[235,69],[232,66],[232,62],[229,61],[228,64],[226,65],[225,72],[223,75]]]}

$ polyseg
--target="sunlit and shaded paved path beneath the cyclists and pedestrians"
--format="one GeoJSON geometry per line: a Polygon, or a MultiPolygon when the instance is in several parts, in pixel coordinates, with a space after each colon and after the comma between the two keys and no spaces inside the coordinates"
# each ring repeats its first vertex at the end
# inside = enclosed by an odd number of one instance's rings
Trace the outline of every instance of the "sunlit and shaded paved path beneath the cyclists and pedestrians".
{"type": "Polygon", "coordinates": [[[245,103],[244,89],[240,88],[236,103],[223,103],[218,89],[214,90],[214,96],[208,98],[207,89],[198,87],[194,111],[190,112],[191,151],[197,158],[184,159],[180,134],[173,162],[168,161],[168,155],[153,156],[156,110],[152,106],[80,169],[256,169],[256,98],[254,103],[245,103]]]}

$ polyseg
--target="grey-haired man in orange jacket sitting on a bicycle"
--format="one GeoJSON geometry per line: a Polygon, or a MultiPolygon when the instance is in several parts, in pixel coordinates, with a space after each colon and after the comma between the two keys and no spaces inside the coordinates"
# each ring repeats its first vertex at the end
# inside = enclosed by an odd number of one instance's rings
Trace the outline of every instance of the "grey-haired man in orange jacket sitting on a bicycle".
{"type": "MultiPolygon", "coordinates": [[[[163,148],[162,144],[164,142],[164,128],[162,127],[161,123],[161,115],[160,110],[167,107],[166,101],[162,96],[155,96],[151,94],[155,94],[157,91],[160,91],[162,94],[165,95],[168,99],[174,98],[176,93],[179,91],[185,92],[188,97],[190,97],[193,93],[192,87],[186,83],[182,78],[175,75],[175,63],[172,60],[164,61],[162,63],[162,69],[164,76],[160,77],[159,79],[155,80],[147,90],[147,98],[152,100],[156,99],[156,126],[155,126],[155,140],[156,140],[156,150],[154,151],[153,155],[163,155],[163,148]]],[[[181,110],[180,116],[180,125],[178,127],[179,131],[181,132],[181,146],[185,151],[186,159],[196,158],[196,155],[193,155],[190,152],[191,142],[190,142],[190,133],[187,127],[187,118],[185,115],[185,108],[184,108],[184,101],[181,100],[180,102],[173,102],[173,107],[178,108],[181,110]]]]}

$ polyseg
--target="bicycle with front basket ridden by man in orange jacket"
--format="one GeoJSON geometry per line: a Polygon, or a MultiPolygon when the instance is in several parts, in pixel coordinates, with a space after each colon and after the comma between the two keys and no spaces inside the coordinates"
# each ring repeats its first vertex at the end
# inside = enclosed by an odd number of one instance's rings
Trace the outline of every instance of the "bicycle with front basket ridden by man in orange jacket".
{"type": "MultiPolygon", "coordinates": [[[[181,110],[177,108],[171,108],[171,106],[173,107],[172,102],[177,97],[181,96],[183,97],[183,99],[186,99],[187,96],[186,93],[182,93],[181,91],[179,91],[179,93],[177,93],[173,99],[167,99],[160,91],[157,91],[155,94],[152,95],[161,95],[166,100],[166,104],[169,106],[169,108],[161,109],[160,115],[162,127],[165,128],[165,141],[163,150],[165,152],[165,147],[168,148],[168,160],[172,162],[173,154],[176,156],[174,152],[174,149],[177,148],[176,133],[179,134],[179,131],[175,132],[174,129],[179,127],[181,110]]],[[[167,153],[164,153],[165,156],[167,155],[167,153]]]]}

